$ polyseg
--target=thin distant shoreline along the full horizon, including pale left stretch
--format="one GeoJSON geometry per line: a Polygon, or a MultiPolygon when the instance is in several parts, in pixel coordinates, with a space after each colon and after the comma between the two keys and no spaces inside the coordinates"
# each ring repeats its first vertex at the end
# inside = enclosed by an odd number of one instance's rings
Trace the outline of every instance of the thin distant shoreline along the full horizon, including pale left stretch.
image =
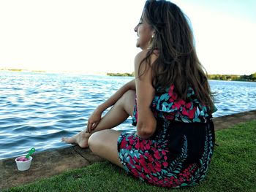
{"type": "MultiPolygon", "coordinates": [[[[135,73],[104,73],[104,72],[56,72],[56,71],[44,71],[44,70],[27,70],[27,69],[0,69],[4,72],[35,72],[35,73],[71,73],[71,74],[91,74],[91,75],[107,75],[116,77],[135,77],[135,73]]],[[[208,74],[208,80],[226,80],[226,81],[247,81],[256,82],[256,72],[249,75],[237,75],[237,74],[208,74]]]]}

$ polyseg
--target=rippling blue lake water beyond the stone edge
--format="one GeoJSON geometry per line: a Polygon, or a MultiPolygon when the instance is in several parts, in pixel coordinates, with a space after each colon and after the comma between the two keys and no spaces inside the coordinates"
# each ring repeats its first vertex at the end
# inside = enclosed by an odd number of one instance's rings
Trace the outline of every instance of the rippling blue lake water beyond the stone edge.
{"type": "MultiPolygon", "coordinates": [[[[0,159],[69,145],[98,104],[132,77],[0,72],[0,159]]],[[[256,82],[210,81],[214,117],[256,109],[256,82]]],[[[131,118],[117,129],[132,130],[131,118]]]]}

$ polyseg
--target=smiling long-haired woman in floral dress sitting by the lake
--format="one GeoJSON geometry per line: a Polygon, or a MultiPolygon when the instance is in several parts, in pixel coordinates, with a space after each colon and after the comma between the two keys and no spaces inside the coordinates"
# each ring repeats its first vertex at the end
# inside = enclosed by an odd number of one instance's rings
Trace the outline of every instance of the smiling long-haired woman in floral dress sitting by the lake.
{"type": "Polygon", "coordinates": [[[135,32],[142,49],[135,80],[97,107],[86,131],[63,141],[90,147],[147,183],[196,185],[213,153],[214,104],[187,18],[170,1],[146,1],[135,32]],[[110,129],[129,115],[136,133],[110,129]]]}

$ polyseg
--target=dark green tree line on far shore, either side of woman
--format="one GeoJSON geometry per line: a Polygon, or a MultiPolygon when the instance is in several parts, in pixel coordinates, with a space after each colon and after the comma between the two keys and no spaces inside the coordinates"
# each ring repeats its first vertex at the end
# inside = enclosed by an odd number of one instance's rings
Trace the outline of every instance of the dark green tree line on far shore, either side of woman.
{"type": "MultiPolygon", "coordinates": [[[[134,77],[135,73],[107,73],[109,76],[134,77]]],[[[256,82],[256,72],[249,75],[236,74],[208,74],[209,80],[235,80],[235,81],[254,81],[256,82]]]]}

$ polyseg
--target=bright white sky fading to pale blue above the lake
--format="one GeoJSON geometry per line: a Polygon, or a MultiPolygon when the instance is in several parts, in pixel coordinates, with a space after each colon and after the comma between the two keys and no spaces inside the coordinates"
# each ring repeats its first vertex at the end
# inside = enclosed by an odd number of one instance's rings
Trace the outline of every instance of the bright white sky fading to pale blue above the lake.
{"type": "MultiPolygon", "coordinates": [[[[208,74],[256,72],[255,0],[173,0],[208,74]]],[[[133,72],[142,0],[0,0],[0,69],[133,72]]]]}

